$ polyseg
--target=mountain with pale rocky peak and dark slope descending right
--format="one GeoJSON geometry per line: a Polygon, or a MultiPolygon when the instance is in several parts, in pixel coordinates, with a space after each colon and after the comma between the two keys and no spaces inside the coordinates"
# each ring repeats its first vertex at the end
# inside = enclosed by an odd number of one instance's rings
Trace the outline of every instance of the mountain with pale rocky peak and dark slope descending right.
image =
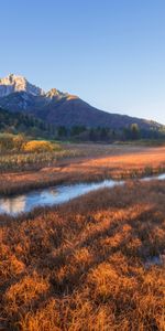
{"type": "Polygon", "coordinates": [[[121,129],[138,124],[146,130],[163,127],[155,121],[99,110],[79,97],[56,88],[45,93],[24,77],[13,74],[0,79],[0,106],[12,113],[23,111],[55,126],[121,129]]]}

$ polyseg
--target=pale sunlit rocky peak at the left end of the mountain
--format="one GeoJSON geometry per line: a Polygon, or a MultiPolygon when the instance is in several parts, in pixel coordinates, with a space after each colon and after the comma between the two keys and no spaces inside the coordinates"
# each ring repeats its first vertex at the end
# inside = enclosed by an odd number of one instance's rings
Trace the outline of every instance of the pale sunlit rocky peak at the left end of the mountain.
{"type": "Polygon", "coordinates": [[[0,97],[8,96],[15,92],[26,92],[34,96],[45,94],[44,90],[30,84],[23,76],[10,74],[4,78],[0,78],[0,97]]]}

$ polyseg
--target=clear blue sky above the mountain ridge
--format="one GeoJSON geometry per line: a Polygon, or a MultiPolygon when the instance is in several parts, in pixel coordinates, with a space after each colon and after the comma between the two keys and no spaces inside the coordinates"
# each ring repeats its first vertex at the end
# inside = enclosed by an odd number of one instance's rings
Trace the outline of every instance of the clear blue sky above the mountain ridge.
{"type": "Polygon", "coordinates": [[[0,1],[0,77],[165,124],[164,0],[0,1]]]}

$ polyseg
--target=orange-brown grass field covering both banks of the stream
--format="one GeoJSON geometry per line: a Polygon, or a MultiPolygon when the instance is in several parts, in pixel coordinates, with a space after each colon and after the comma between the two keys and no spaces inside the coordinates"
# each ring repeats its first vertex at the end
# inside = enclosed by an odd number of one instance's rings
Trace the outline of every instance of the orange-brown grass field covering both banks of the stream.
{"type": "MultiPolygon", "coordinates": [[[[0,193],[163,172],[165,147],[69,146],[76,157],[0,177],[0,193]]],[[[0,330],[165,330],[165,182],[129,180],[0,216],[0,330]]]]}

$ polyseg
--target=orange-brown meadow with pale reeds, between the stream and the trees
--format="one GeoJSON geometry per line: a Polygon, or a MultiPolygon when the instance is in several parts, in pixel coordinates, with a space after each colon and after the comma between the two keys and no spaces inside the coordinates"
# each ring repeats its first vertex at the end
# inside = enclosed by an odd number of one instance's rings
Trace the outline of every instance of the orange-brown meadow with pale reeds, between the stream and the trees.
{"type": "MultiPolygon", "coordinates": [[[[8,158],[14,160],[14,154],[1,158],[8,162],[8,158]]],[[[21,166],[19,161],[14,171],[10,166],[8,168],[0,163],[1,168],[4,167],[0,175],[0,194],[9,195],[63,183],[135,179],[165,172],[164,146],[65,143],[61,151],[31,153],[33,166],[25,163],[29,154],[22,153],[19,158],[23,158],[23,162],[21,166]]]]}

